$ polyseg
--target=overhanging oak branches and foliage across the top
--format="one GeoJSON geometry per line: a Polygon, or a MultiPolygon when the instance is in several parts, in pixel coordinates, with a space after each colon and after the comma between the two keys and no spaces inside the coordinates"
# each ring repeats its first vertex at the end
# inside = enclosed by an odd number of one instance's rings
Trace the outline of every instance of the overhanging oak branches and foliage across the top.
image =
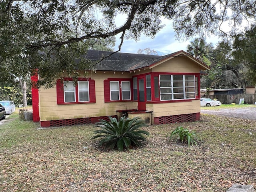
{"type": "Polygon", "coordinates": [[[10,76],[25,77],[38,68],[42,81],[51,87],[65,75],[76,78],[77,68],[92,66],[75,60],[94,42],[111,41],[116,35],[139,40],[154,37],[163,27],[161,18],[173,20],[178,38],[196,34],[236,34],[242,19],[255,19],[254,0],[2,0],[0,2],[1,82],[10,76]],[[232,14],[228,14],[232,12],[232,14]],[[115,18],[124,15],[116,26],[115,18]],[[232,29],[222,27],[232,22],[232,29]]]}

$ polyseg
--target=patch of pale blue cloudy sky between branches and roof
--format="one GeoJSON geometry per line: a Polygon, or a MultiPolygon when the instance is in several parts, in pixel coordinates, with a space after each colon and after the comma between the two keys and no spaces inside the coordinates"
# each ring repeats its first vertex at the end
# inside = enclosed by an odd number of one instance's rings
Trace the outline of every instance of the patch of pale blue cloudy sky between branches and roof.
{"type": "MultiPolygon", "coordinates": [[[[120,17],[119,17],[120,18],[120,17]]],[[[118,23],[118,21],[116,21],[118,23]]],[[[162,23],[165,24],[164,28],[160,30],[155,36],[154,39],[150,37],[146,37],[144,34],[140,37],[140,41],[135,42],[135,40],[126,40],[124,39],[123,45],[121,47],[121,52],[125,53],[137,53],[138,49],[150,48],[151,50],[155,50],[158,52],[158,55],[166,55],[179,50],[186,51],[186,46],[190,43],[191,40],[187,41],[178,41],[175,39],[175,32],[172,29],[171,21],[167,19],[163,19],[162,23]]],[[[120,44],[120,36],[116,36],[116,46],[115,50],[118,50],[118,45],[120,44]]],[[[215,46],[218,43],[217,37],[206,38],[206,42],[212,42],[215,46]]]]}

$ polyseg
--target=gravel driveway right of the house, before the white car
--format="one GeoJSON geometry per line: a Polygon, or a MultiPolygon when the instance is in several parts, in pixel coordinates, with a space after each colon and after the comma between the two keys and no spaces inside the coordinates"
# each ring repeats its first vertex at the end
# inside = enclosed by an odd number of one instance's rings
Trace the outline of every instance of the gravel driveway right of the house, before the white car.
{"type": "Polygon", "coordinates": [[[256,107],[230,108],[230,109],[217,109],[217,110],[207,110],[206,107],[201,107],[201,113],[256,120],[256,107]]]}

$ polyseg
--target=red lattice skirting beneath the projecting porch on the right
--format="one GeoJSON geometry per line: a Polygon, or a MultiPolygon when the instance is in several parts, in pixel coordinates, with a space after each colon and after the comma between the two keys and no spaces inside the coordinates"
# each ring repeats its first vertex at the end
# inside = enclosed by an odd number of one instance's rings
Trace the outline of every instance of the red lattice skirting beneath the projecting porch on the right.
{"type": "Polygon", "coordinates": [[[193,121],[199,121],[199,119],[200,119],[200,113],[172,115],[172,116],[155,117],[154,124],[193,122],[193,121]]]}

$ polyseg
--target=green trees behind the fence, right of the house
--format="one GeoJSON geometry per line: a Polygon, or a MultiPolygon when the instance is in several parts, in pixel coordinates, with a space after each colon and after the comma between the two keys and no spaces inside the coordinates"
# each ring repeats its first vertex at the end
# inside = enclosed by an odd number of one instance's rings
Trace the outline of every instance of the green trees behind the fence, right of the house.
{"type": "Polygon", "coordinates": [[[243,88],[256,85],[256,24],[220,41],[214,48],[195,38],[187,52],[211,67],[201,77],[201,88],[243,88]]]}

